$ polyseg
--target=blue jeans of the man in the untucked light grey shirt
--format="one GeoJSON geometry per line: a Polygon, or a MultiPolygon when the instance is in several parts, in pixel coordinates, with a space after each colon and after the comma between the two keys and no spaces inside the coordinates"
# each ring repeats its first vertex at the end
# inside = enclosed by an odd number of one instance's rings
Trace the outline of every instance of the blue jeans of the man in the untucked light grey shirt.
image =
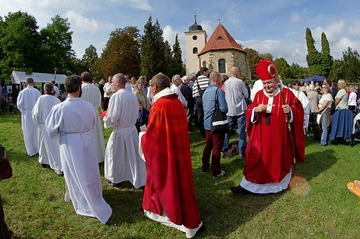
{"type": "Polygon", "coordinates": [[[228,116],[228,121],[230,133],[225,134],[223,150],[227,150],[229,148],[231,132],[235,126],[235,123],[237,123],[237,128],[239,129],[239,154],[244,156],[247,146],[245,131],[245,112],[242,115],[228,116]]]}

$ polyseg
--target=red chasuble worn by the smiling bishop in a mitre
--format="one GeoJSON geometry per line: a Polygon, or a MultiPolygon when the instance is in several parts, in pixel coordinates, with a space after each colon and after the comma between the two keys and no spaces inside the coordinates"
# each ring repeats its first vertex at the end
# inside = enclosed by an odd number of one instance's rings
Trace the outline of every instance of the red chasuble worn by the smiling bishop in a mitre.
{"type": "MultiPolygon", "coordinates": [[[[290,125],[296,163],[301,163],[305,158],[304,109],[290,90],[283,88],[283,93],[285,102],[290,106],[293,114],[293,122],[290,125]]],[[[265,111],[255,116],[257,121],[254,124],[251,122],[253,109],[259,104],[267,105],[268,100],[268,96],[260,90],[255,95],[254,102],[246,110],[246,130],[249,142],[245,152],[246,163],[243,174],[246,180],[257,184],[281,182],[290,172],[293,163],[281,93],[273,99],[268,124],[265,123],[265,111]]]]}

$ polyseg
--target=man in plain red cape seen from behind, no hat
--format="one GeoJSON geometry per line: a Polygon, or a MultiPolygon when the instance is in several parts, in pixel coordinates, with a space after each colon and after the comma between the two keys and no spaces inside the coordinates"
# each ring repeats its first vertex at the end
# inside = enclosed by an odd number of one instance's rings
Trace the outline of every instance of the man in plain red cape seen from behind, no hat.
{"type": "Polygon", "coordinates": [[[155,95],[141,137],[147,166],[144,213],[192,238],[203,223],[194,191],[186,112],[178,95],[170,90],[169,77],[157,74],[151,82],[155,95]]]}

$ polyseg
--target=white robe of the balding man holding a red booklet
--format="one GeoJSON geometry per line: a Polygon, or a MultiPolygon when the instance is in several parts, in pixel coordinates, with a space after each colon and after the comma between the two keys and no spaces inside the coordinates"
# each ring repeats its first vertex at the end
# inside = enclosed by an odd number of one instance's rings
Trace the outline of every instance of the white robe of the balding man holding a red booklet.
{"type": "Polygon", "coordinates": [[[126,89],[114,93],[104,120],[112,127],[105,152],[105,178],[113,183],[130,181],[135,188],[146,183],[146,165],[139,155],[139,138],[135,123],[139,117],[136,97],[126,89]]]}

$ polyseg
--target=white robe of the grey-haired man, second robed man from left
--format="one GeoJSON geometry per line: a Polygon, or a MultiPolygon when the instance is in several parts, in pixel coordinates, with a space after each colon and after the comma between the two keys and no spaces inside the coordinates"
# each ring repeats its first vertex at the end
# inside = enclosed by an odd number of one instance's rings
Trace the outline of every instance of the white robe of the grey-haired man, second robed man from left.
{"type": "Polygon", "coordinates": [[[60,103],[60,100],[53,95],[42,95],[39,97],[31,111],[32,120],[39,127],[39,162],[42,164],[49,164],[51,169],[57,171],[62,171],[59,140],[50,138],[48,131],[46,131],[45,120],[52,107],[60,103]]]}

